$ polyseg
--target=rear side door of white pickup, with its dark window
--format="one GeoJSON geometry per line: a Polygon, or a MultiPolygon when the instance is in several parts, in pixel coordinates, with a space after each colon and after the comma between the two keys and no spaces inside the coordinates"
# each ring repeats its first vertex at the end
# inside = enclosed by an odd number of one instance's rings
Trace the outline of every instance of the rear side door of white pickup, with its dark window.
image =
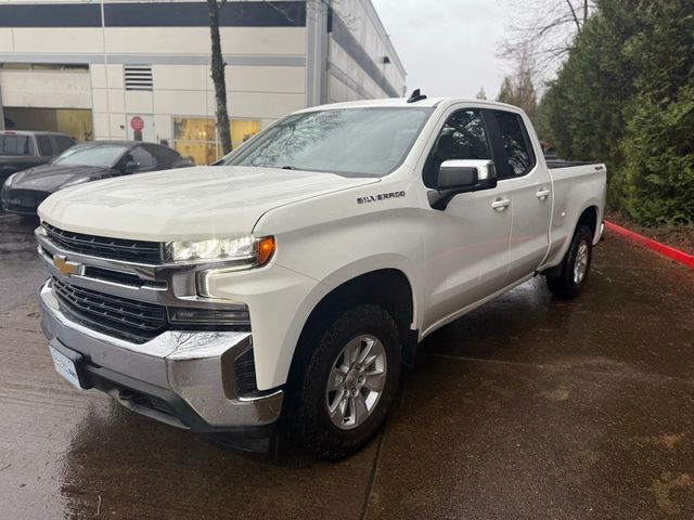
{"type": "Polygon", "coordinates": [[[502,167],[499,185],[511,198],[513,225],[509,246],[506,285],[532,274],[549,247],[552,184],[544,162],[535,154],[520,114],[488,110],[491,131],[500,141],[502,167]],[[502,150],[501,150],[502,148],[502,150]]]}

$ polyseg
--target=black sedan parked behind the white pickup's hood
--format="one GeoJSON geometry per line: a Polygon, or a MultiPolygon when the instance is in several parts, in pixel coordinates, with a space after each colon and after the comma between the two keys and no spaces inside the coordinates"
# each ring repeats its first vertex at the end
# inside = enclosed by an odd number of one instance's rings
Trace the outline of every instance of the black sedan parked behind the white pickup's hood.
{"type": "Polygon", "coordinates": [[[50,162],[12,174],[0,194],[5,211],[36,214],[51,193],[111,177],[191,166],[178,152],[138,141],[91,141],[66,150],[50,162]]]}

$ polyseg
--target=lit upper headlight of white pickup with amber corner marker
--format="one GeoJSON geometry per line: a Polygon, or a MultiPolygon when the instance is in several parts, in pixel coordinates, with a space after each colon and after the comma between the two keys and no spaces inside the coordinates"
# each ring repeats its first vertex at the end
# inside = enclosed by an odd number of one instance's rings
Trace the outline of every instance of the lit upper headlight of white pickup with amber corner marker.
{"type": "Polygon", "coordinates": [[[244,268],[264,265],[270,260],[274,249],[274,237],[256,238],[253,235],[164,244],[166,260],[169,262],[227,260],[244,268]]]}

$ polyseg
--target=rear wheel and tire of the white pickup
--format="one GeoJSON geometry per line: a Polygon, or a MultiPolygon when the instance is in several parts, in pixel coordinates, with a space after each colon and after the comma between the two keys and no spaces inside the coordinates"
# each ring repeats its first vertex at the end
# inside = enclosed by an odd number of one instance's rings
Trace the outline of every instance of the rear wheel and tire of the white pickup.
{"type": "Polygon", "coordinates": [[[580,225],[571,245],[564,255],[557,276],[547,276],[547,286],[557,298],[576,298],[588,283],[593,257],[593,234],[587,225],[580,225]]]}

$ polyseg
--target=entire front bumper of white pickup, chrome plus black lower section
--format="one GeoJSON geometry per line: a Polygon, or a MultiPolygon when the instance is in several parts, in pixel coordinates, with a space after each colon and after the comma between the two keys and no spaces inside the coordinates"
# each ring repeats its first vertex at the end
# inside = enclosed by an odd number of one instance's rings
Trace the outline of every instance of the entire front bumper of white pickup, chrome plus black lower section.
{"type": "Polygon", "coordinates": [[[236,391],[234,361],[252,348],[250,333],[167,330],[130,343],[69,320],[50,280],[39,301],[49,343],[78,354],[82,388],[97,388],[134,412],[196,432],[272,432],[283,391],[252,398],[236,391]]]}

